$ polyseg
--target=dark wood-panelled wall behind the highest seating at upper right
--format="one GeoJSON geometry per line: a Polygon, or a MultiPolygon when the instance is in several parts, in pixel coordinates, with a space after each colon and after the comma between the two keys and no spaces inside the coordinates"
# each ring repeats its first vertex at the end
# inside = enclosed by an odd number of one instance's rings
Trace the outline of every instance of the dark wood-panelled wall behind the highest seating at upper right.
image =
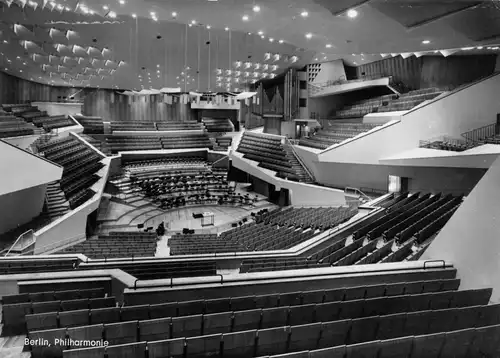
{"type": "Polygon", "coordinates": [[[393,76],[410,89],[457,87],[488,76],[495,71],[497,55],[401,56],[367,63],[356,68],[356,75],[393,76]]]}

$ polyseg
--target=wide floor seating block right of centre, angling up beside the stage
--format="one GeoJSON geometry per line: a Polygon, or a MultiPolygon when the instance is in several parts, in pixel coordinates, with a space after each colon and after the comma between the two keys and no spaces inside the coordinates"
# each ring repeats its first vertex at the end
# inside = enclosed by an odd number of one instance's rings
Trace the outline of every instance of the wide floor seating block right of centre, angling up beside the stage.
{"type": "MultiPolygon", "coordinates": [[[[244,251],[286,250],[355,215],[349,208],[287,208],[260,215],[255,223],[223,232],[215,242],[241,245],[244,251]]],[[[206,241],[198,243],[204,247],[206,241]]],[[[290,267],[293,268],[293,267],[290,267]]]]}

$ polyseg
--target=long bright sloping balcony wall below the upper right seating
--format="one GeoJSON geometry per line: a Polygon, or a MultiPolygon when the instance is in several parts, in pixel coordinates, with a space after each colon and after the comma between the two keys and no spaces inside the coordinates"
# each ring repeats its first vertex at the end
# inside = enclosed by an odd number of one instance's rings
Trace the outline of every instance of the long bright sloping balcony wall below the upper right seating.
{"type": "Polygon", "coordinates": [[[321,162],[378,164],[379,159],[418,148],[420,140],[461,134],[496,121],[500,113],[500,74],[423,105],[359,139],[319,155],[321,162]]]}

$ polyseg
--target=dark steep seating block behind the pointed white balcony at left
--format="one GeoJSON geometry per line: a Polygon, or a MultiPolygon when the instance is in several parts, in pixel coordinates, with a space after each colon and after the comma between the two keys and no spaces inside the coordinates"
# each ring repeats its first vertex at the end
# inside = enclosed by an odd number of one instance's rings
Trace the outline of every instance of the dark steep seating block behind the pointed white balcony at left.
{"type": "Polygon", "coordinates": [[[95,194],[90,187],[99,180],[96,173],[103,166],[102,157],[95,151],[72,136],[41,144],[38,150],[64,167],[60,185],[72,209],[95,194]]]}

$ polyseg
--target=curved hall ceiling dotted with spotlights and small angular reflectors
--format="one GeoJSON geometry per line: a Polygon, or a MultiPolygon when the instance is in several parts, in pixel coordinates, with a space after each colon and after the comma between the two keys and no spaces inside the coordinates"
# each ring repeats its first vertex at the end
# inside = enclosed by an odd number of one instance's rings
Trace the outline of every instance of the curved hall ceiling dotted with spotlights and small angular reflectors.
{"type": "Polygon", "coordinates": [[[0,0],[0,69],[53,85],[238,91],[315,61],[498,53],[499,20],[500,2],[479,0],[0,0]]]}

